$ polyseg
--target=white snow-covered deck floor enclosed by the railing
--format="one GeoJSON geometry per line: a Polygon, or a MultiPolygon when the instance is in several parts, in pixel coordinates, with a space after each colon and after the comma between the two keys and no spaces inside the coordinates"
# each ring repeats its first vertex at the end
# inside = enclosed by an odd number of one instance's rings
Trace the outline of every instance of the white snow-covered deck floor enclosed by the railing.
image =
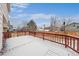
{"type": "Polygon", "coordinates": [[[78,54],[63,45],[33,36],[20,36],[7,39],[4,56],[77,56],[78,54]]]}

